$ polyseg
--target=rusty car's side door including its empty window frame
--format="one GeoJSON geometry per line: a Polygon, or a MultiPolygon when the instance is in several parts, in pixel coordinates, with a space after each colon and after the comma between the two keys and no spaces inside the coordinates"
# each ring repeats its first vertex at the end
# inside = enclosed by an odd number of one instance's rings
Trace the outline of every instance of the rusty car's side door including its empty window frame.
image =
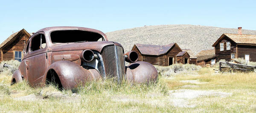
{"type": "Polygon", "coordinates": [[[32,37],[29,45],[29,57],[26,59],[26,74],[32,85],[40,85],[45,71],[49,67],[47,61],[47,43],[44,33],[32,37]]]}

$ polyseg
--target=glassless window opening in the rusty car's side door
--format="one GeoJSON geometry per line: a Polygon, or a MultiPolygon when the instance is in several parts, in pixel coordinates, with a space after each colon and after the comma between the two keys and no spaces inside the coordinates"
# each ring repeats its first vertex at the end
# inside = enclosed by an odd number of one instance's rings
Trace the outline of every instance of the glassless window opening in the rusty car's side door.
{"type": "Polygon", "coordinates": [[[31,51],[36,51],[46,47],[44,34],[38,34],[31,40],[31,51]]]}

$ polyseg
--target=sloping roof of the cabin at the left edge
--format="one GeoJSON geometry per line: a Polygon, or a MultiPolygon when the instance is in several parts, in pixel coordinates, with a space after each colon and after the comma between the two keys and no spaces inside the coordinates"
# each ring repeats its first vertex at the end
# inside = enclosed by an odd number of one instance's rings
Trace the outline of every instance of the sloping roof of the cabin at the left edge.
{"type": "Polygon", "coordinates": [[[17,39],[17,38],[18,38],[17,36],[18,36],[19,34],[21,34],[22,32],[23,32],[24,34],[28,35],[29,37],[31,36],[25,29],[21,29],[20,31],[15,32],[15,33],[12,34],[11,36],[9,36],[5,41],[3,41],[3,42],[0,44],[0,48],[2,48],[2,47],[5,46],[5,45],[8,45],[9,42],[12,42],[12,41],[14,41],[15,39],[17,39]]]}

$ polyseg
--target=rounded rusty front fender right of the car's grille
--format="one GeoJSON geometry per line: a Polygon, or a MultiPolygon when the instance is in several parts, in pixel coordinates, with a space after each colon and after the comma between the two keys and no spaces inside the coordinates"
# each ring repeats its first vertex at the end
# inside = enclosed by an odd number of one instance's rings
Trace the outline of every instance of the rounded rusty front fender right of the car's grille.
{"type": "Polygon", "coordinates": [[[149,83],[157,80],[157,69],[148,62],[138,61],[126,67],[126,80],[133,83],[149,83]]]}

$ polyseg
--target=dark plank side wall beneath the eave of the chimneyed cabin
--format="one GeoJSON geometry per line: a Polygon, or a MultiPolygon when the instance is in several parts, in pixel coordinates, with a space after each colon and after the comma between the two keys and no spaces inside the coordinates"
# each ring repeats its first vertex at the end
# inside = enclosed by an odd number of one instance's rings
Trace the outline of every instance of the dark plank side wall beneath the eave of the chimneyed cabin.
{"type": "Polygon", "coordinates": [[[238,45],[237,57],[244,59],[245,54],[249,54],[249,58],[250,58],[249,61],[256,62],[256,46],[238,45]]]}

